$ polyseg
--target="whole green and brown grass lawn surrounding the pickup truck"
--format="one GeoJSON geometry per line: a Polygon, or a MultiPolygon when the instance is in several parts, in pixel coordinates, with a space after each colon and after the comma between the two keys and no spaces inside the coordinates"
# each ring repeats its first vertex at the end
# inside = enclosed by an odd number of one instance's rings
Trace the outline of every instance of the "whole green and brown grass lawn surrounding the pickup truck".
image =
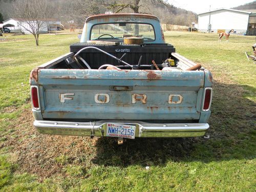
{"type": "Polygon", "coordinates": [[[210,139],[129,140],[41,135],[30,71],[69,52],[77,35],[0,37],[0,191],[255,191],[255,36],[165,32],[214,76],[210,139]],[[145,166],[150,166],[147,170],[145,166]]]}

